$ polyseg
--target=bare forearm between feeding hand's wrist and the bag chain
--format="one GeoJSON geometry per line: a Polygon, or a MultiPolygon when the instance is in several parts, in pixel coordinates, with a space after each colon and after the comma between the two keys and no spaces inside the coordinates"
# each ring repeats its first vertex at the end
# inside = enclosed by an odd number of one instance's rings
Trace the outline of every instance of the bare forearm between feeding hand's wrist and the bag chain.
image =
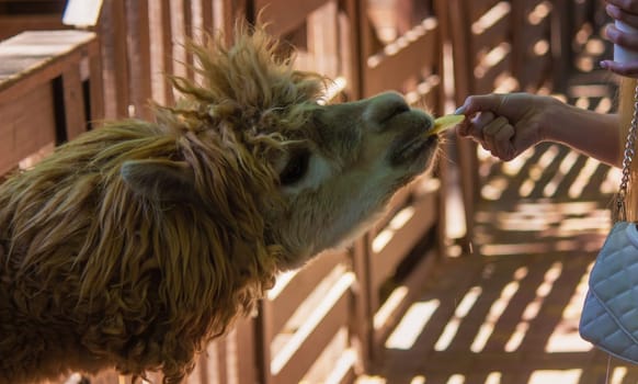
{"type": "Polygon", "coordinates": [[[592,112],[557,101],[548,109],[544,136],[605,163],[622,165],[617,114],[592,112]]]}

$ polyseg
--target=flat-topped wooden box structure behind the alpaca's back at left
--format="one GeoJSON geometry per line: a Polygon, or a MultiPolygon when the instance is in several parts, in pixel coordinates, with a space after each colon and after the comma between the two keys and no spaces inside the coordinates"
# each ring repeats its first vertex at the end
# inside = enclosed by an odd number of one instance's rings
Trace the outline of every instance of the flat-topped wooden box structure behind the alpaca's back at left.
{"type": "Polygon", "coordinates": [[[0,176],[103,117],[94,33],[23,32],[0,44],[0,176]]]}

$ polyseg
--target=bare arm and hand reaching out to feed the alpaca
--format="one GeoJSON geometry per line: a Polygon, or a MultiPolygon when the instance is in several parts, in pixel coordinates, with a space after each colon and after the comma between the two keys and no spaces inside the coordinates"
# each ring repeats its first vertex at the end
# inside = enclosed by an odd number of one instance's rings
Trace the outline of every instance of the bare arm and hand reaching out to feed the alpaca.
{"type": "Polygon", "coordinates": [[[620,165],[616,114],[581,110],[529,93],[471,95],[457,113],[468,117],[457,133],[505,161],[538,143],[556,142],[603,162],[620,165]]]}

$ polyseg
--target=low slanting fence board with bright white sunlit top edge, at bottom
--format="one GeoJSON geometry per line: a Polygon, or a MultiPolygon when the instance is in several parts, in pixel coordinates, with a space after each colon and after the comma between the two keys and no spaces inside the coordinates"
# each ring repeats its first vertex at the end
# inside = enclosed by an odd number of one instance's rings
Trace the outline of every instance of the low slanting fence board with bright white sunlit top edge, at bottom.
{"type": "Polygon", "coordinates": [[[349,292],[354,280],[353,273],[343,274],[293,339],[273,358],[271,370],[274,381],[298,383],[328,346],[332,336],[341,327],[346,326],[349,292]]]}

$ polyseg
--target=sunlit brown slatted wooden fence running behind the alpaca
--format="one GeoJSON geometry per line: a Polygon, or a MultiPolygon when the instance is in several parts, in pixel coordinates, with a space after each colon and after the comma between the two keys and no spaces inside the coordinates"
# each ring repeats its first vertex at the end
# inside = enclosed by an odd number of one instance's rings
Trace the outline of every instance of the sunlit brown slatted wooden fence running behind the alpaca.
{"type": "MultiPolygon", "coordinates": [[[[8,1],[0,1],[0,5],[2,2],[8,1]]],[[[60,111],[67,114],[65,120],[55,117],[62,112],[42,117],[48,125],[35,121],[21,125],[43,129],[33,134],[43,142],[25,148],[7,147],[7,137],[20,145],[23,138],[11,128],[12,123],[2,123],[0,173],[43,144],[72,138],[79,129],[90,128],[81,122],[150,117],[149,100],[172,103],[179,95],[164,75],[194,76],[184,65],[192,64],[193,58],[182,43],[203,31],[224,31],[230,38],[236,18],[254,21],[260,15],[271,22],[269,31],[298,49],[299,68],[335,80],[332,93],[338,100],[356,100],[394,89],[412,104],[440,115],[471,93],[550,90],[557,81],[556,69],[565,71],[566,59],[578,48],[557,45],[573,41],[571,34],[591,22],[589,13],[581,10],[591,2],[104,0],[92,32],[71,31],[87,39],[78,48],[53,53],[55,59],[44,64],[57,68],[45,71],[50,76],[33,80],[22,68],[14,71],[19,75],[10,81],[24,90],[56,89],[61,83],[60,100],[65,104],[60,111]],[[561,22],[568,20],[566,27],[561,22]],[[72,59],[64,59],[67,56],[72,59]],[[67,82],[84,86],[81,90],[67,88],[67,82]],[[67,100],[81,100],[83,108],[69,114],[67,100]],[[55,124],[54,129],[50,126],[55,124]],[[58,137],[52,132],[67,134],[58,137]]],[[[4,16],[0,15],[0,21],[4,16]]],[[[5,63],[0,60],[0,70],[4,69],[5,63]]],[[[7,81],[0,77],[0,121],[16,122],[15,113],[3,115],[3,111],[23,111],[24,115],[24,105],[32,101],[12,100],[7,81]]],[[[56,101],[46,102],[57,105],[56,101]]],[[[469,218],[477,185],[476,147],[453,144],[447,150],[458,155],[469,218]]],[[[445,257],[449,166],[442,161],[433,177],[400,191],[386,217],[349,250],[328,252],[301,270],[281,275],[261,302],[259,314],[242,319],[231,332],[208,346],[187,382],[353,382],[357,373],[380,358],[379,346],[433,266],[445,257]]],[[[467,227],[471,230],[469,219],[467,227]]],[[[88,380],[129,381],[114,372],[88,380]]]]}

